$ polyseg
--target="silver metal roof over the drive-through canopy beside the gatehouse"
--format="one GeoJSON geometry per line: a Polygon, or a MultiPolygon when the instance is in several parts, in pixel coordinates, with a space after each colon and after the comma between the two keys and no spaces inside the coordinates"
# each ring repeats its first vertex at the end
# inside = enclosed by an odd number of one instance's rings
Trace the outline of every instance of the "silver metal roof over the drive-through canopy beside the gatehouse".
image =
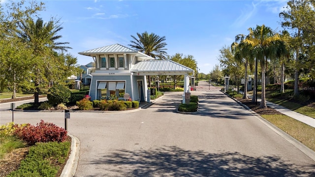
{"type": "Polygon", "coordinates": [[[145,71],[186,71],[193,72],[193,69],[190,69],[187,66],[179,64],[172,60],[145,60],[140,61],[134,64],[131,69],[131,72],[145,72],[145,71]]]}

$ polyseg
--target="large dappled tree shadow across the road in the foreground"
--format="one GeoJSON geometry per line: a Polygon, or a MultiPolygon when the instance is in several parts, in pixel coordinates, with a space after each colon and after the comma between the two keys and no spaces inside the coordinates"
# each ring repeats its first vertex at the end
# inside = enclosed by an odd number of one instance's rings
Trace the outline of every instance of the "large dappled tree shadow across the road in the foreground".
{"type": "Polygon", "coordinates": [[[254,157],[226,151],[209,153],[176,146],[136,151],[122,149],[109,155],[100,154],[91,163],[109,174],[128,177],[315,176],[314,165],[294,165],[279,156],[254,157]]]}

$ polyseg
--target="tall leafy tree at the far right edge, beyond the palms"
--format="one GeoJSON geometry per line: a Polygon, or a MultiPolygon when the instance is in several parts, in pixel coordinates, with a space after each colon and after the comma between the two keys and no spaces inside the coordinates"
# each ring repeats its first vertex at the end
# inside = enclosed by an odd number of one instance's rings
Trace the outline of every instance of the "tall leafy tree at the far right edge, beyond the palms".
{"type": "Polygon", "coordinates": [[[289,29],[292,35],[291,41],[295,48],[294,96],[298,96],[299,75],[303,67],[311,76],[315,74],[312,67],[312,63],[315,64],[315,1],[289,0],[286,10],[279,15],[284,20],[282,26],[289,29]]]}

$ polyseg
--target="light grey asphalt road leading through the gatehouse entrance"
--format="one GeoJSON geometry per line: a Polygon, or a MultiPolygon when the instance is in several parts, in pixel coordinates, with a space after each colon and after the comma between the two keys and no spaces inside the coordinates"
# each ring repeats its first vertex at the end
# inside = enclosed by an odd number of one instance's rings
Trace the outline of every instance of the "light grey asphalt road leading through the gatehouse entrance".
{"type": "MultiPolygon", "coordinates": [[[[192,94],[196,115],[176,113],[182,92],[132,113],[71,113],[68,131],[81,142],[75,177],[315,176],[315,161],[221,91],[192,94]]],[[[0,114],[0,124],[11,121],[0,114]]],[[[16,123],[64,126],[63,112],[14,114],[16,123]]]]}

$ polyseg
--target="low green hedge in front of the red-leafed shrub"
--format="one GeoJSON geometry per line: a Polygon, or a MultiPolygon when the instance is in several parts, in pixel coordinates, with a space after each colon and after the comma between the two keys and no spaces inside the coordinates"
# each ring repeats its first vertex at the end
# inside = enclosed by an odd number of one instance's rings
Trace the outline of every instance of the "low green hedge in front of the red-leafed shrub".
{"type": "Polygon", "coordinates": [[[7,177],[56,177],[70,151],[70,142],[37,143],[21,161],[18,170],[7,177]]]}

